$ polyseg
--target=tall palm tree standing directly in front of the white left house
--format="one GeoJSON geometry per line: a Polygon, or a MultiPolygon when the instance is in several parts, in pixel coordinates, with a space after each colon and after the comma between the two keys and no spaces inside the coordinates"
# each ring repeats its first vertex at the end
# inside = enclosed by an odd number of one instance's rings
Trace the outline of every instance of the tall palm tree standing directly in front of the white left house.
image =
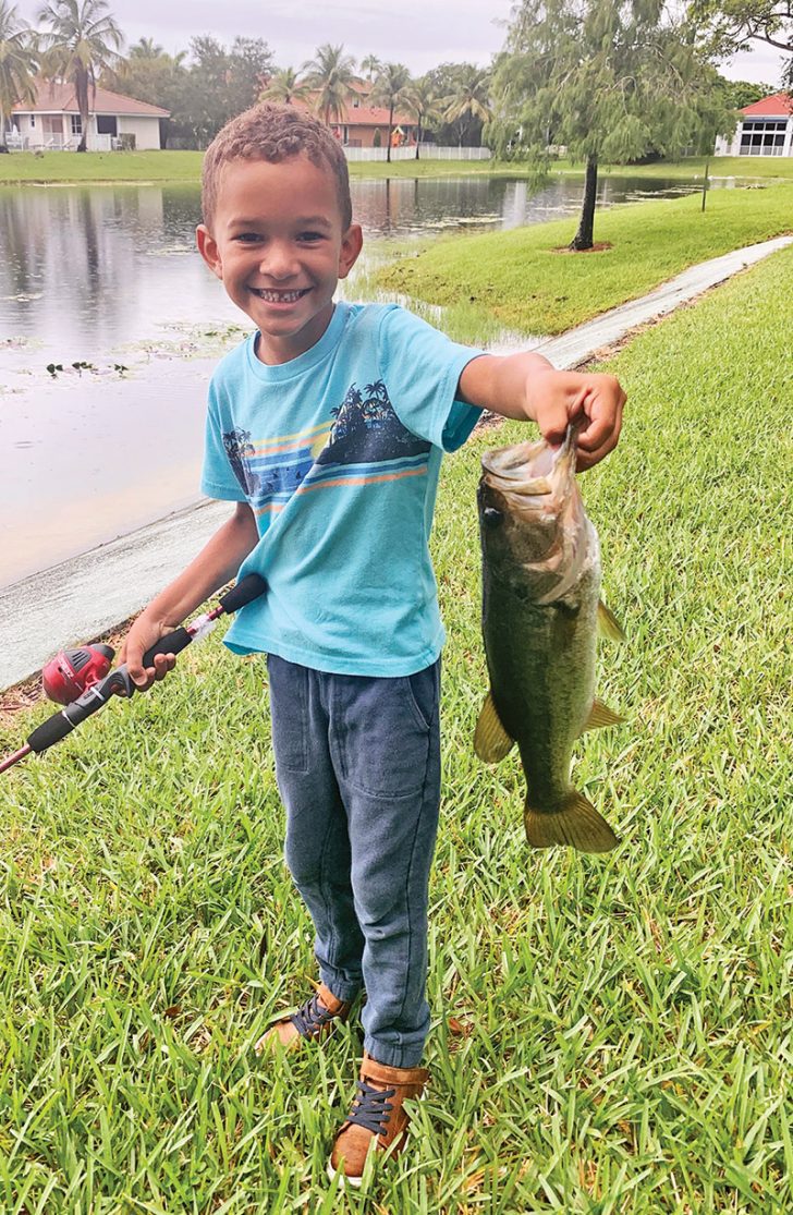
{"type": "Polygon", "coordinates": [[[78,152],[85,152],[89,134],[89,91],[96,94],[97,73],[111,67],[124,41],[107,7],[107,0],[51,0],[39,13],[51,27],[41,35],[44,74],[74,85],[81,124],[78,152]]]}

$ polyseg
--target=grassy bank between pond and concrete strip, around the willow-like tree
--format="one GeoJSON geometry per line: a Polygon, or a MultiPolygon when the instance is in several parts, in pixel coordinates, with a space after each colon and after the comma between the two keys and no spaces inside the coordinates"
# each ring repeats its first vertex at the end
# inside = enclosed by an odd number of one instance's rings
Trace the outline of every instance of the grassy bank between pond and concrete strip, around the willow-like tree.
{"type": "Polygon", "coordinates": [[[600,252],[573,254],[576,219],[441,239],[378,273],[381,287],[528,334],[563,333],[687,266],[793,230],[793,187],[721,190],[599,211],[600,252]]]}

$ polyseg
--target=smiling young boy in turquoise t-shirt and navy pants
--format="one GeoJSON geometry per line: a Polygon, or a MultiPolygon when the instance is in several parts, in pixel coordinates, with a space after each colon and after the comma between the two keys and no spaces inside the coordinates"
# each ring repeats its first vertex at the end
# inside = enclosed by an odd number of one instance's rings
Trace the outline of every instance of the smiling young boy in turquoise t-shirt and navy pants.
{"type": "Polygon", "coordinates": [[[285,857],[316,928],[319,985],[257,1044],[324,1038],[366,988],[357,1094],[329,1163],[359,1185],[367,1153],[404,1140],[421,1092],[427,880],[438,819],[443,629],[427,552],[443,451],[480,411],[561,441],[579,467],[617,443],[610,375],[455,345],[404,310],[334,304],[361,252],[344,153],[321,123],[262,104],[206,152],[198,248],[255,332],[210,386],[202,488],[234,514],[137,618],[143,651],[230,578],[262,575],[226,644],[265,652],[285,857]]]}

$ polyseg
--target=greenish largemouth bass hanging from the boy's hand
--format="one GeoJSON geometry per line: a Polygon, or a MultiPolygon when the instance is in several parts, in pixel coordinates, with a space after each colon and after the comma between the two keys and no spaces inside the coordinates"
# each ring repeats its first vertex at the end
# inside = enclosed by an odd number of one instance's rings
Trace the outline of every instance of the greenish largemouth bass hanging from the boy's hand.
{"type": "Polygon", "coordinates": [[[584,730],[622,720],[595,697],[600,631],[622,639],[600,601],[600,544],[574,477],[576,430],[561,447],[525,442],[482,456],[482,632],[491,678],[474,748],[497,763],[517,744],[534,848],[608,852],[617,836],[570,780],[584,730]]]}

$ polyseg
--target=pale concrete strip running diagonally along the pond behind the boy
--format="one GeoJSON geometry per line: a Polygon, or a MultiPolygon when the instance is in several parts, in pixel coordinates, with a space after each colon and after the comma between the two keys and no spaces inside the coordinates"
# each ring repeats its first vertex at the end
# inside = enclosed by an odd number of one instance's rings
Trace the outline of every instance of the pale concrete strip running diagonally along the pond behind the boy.
{"type": "MultiPolygon", "coordinates": [[[[559,368],[576,367],[638,326],[791,243],[793,237],[778,237],[703,261],[648,295],[532,349],[559,368]]],[[[89,642],[138,611],[232,510],[231,503],[202,502],[0,589],[0,689],[39,671],[62,646],[89,642]]]]}

